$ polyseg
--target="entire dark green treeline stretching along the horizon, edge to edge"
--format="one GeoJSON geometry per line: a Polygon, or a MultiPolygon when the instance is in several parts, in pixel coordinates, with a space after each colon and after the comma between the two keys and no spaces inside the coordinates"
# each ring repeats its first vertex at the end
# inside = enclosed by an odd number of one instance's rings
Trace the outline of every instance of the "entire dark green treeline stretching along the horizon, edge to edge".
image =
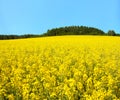
{"type": "Polygon", "coordinates": [[[114,30],[109,30],[107,33],[104,31],[87,26],[65,26],[60,28],[53,28],[43,34],[25,34],[25,35],[0,35],[0,40],[8,39],[22,39],[22,38],[35,38],[45,36],[61,36],[61,35],[108,35],[120,36],[114,30]]]}

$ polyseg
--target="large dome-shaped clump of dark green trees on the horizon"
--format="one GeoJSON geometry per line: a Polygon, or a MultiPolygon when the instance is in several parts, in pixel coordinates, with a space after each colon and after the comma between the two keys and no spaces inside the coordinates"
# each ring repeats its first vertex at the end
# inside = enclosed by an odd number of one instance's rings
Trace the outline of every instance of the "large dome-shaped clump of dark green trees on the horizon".
{"type": "Polygon", "coordinates": [[[105,33],[97,28],[87,26],[66,26],[60,28],[53,28],[45,33],[45,36],[56,35],[104,35],[105,33]]]}

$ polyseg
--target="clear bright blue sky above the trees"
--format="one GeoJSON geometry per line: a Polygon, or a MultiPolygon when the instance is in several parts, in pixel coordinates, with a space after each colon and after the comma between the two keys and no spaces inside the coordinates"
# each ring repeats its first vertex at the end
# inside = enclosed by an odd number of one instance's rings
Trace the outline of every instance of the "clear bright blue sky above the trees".
{"type": "Polygon", "coordinates": [[[83,25],[120,33],[120,0],[0,0],[0,34],[83,25]]]}

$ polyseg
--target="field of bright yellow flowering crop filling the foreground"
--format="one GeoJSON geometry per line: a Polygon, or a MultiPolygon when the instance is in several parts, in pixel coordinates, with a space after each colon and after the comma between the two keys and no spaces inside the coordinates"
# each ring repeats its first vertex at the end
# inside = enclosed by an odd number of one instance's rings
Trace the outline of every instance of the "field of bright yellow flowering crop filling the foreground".
{"type": "Polygon", "coordinates": [[[0,41],[0,100],[120,99],[120,37],[0,41]]]}

